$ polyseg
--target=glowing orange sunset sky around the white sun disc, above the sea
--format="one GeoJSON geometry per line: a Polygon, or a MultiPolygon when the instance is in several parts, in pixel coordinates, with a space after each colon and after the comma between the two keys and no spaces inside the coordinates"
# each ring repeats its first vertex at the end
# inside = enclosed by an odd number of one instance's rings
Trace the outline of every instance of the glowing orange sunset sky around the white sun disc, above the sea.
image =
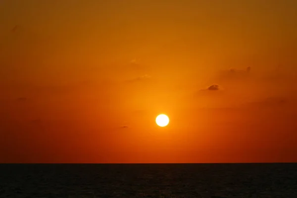
{"type": "Polygon", "coordinates": [[[0,0],[0,163],[297,162],[296,10],[0,0]]]}

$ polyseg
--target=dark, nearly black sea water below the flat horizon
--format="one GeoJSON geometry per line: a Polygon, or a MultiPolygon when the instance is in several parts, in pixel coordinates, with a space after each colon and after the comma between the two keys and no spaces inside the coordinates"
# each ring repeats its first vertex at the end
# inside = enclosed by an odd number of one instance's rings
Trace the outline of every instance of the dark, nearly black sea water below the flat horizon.
{"type": "Polygon", "coordinates": [[[0,198],[297,198],[297,164],[0,164],[0,198]]]}

